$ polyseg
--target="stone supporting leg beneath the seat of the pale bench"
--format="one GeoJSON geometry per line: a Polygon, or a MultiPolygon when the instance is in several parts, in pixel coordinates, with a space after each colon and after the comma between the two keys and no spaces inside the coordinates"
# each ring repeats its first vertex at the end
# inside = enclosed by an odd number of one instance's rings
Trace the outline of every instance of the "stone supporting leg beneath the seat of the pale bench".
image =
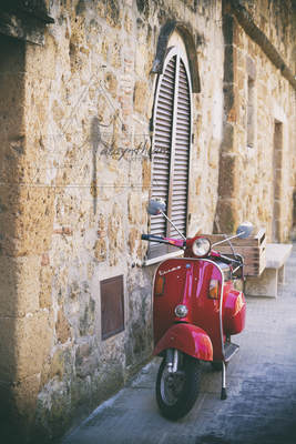
{"type": "Polygon", "coordinates": [[[265,269],[259,278],[246,278],[244,293],[249,296],[277,297],[278,270],[265,269]]]}

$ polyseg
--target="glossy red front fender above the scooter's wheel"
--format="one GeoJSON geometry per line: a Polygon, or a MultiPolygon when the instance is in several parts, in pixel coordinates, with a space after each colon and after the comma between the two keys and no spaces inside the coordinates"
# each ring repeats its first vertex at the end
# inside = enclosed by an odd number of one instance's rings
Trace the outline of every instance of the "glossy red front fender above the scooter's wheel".
{"type": "Polygon", "coordinates": [[[213,345],[204,330],[192,324],[173,325],[153,350],[153,355],[162,355],[166,349],[177,349],[202,361],[213,361],[213,345]]]}

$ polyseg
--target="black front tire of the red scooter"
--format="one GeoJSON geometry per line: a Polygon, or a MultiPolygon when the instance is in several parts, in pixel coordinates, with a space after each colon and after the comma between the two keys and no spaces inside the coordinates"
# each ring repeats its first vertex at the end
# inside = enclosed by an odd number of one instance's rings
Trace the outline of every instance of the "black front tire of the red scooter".
{"type": "Polygon", "coordinates": [[[181,353],[180,362],[178,370],[183,372],[183,375],[170,376],[170,380],[165,381],[164,357],[156,380],[157,404],[162,414],[170,420],[178,420],[192,410],[201,387],[201,362],[185,353],[181,353]]]}

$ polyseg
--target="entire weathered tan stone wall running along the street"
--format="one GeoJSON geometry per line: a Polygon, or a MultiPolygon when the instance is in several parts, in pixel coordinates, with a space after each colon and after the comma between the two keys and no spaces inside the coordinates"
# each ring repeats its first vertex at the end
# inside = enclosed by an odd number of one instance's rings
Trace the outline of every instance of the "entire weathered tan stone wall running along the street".
{"type": "MultiPolygon", "coordinates": [[[[252,4],[277,46],[276,9],[252,4]]],[[[233,231],[251,219],[272,236],[274,216],[275,235],[288,238],[295,90],[222,7],[52,0],[43,47],[0,38],[0,407],[11,442],[59,441],[150,359],[155,265],[143,266],[141,233],[151,185],[151,69],[166,23],[183,23],[198,61],[188,231],[233,231]],[[101,284],[116,276],[123,330],[102,340],[101,284]]],[[[277,49],[292,65],[287,20],[277,49]]]]}

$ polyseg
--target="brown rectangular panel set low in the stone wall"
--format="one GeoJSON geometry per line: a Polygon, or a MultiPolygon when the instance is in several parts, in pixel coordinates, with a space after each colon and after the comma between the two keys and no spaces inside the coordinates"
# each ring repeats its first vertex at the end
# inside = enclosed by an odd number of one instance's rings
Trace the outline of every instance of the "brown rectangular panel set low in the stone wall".
{"type": "Polygon", "coordinates": [[[102,340],[124,330],[123,275],[101,281],[102,340]]]}

